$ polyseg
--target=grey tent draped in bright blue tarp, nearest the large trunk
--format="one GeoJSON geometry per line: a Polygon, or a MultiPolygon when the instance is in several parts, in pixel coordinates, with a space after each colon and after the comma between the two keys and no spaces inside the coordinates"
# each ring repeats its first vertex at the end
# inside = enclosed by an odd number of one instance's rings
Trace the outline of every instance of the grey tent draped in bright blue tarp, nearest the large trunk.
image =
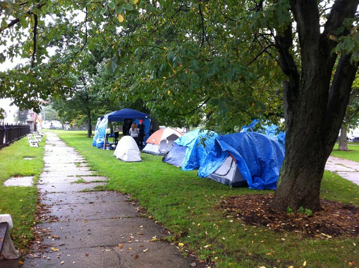
{"type": "Polygon", "coordinates": [[[231,186],[243,184],[250,189],[275,189],[284,160],[284,149],[272,136],[243,132],[218,136],[211,152],[198,170],[198,176],[208,177],[231,186]],[[222,165],[231,157],[242,178],[229,180],[219,176],[222,165]],[[211,175],[213,174],[213,175],[211,175]]]}

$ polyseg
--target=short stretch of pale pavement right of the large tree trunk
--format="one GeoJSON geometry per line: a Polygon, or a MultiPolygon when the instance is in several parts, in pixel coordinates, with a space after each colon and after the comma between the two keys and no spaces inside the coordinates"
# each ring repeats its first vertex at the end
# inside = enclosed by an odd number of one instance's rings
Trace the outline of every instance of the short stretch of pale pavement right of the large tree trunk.
{"type": "Polygon", "coordinates": [[[359,162],[329,156],[325,169],[359,185],[359,162]]]}

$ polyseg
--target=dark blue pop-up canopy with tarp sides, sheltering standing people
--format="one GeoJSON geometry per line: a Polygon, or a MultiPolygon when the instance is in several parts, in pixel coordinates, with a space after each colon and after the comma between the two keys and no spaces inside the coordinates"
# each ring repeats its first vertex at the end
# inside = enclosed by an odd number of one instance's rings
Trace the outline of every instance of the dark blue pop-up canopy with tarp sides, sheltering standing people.
{"type": "Polygon", "coordinates": [[[151,127],[151,119],[148,114],[126,108],[98,117],[95,134],[92,139],[92,146],[102,149],[105,147],[106,129],[108,122],[121,122],[125,120],[132,120],[138,125],[139,119],[143,119],[146,134],[145,139],[147,139],[149,137],[149,130],[151,127]]]}

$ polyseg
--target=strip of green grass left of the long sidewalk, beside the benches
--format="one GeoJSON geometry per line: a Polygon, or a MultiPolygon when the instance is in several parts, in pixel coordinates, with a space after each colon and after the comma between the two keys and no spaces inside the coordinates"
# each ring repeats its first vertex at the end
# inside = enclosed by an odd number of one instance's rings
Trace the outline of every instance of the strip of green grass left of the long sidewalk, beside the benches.
{"type": "Polygon", "coordinates": [[[0,214],[10,214],[14,228],[10,231],[15,244],[22,250],[33,238],[32,226],[37,203],[37,189],[32,187],[5,187],[4,181],[11,177],[34,176],[36,183],[44,168],[45,142],[40,147],[30,147],[27,137],[11,143],[0,150],[0,214]],[[31,158],[31,159],[25,159],[31,158]]]}

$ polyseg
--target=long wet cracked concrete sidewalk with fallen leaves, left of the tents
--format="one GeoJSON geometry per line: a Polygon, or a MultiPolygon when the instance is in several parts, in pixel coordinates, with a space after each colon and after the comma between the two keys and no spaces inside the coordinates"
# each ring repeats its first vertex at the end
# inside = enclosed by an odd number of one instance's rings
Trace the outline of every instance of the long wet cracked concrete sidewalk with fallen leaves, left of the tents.
{"type": "Polygon", "coordinates": [[[142,217],[127,196],[93,191],[107,178],[90,171],[84,158],[51,132],[44,161],[37,185],[45,211],[36,224],[38,241],[23,265],[7,262],[2,268],[204,267],[183,257],[176,245],[161,241],[169,232],[142,217]],[[85,189],[89,192],[81,192],[85,189]]]}

